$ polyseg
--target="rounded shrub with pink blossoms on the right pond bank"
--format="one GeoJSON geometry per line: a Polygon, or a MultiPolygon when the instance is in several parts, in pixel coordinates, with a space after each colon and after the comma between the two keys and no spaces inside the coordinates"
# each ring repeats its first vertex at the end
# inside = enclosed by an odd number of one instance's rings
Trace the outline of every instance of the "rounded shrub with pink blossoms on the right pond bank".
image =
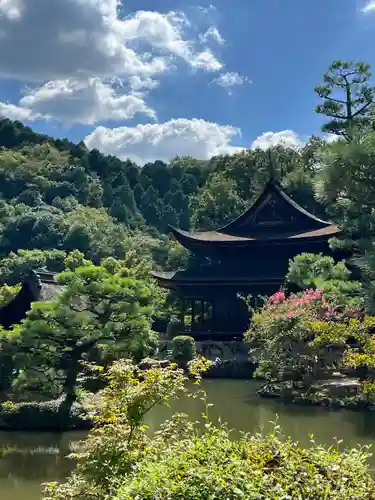
{"type": "MultiPolygon", "coordinates": [[[[327,301],[322,288],[289,296],[281,290],[276,292],[254,313],[246,334],[250,354],[258,363],[256,374],[269,381],[310,384],[326,369],[327,344],[337,337],[332,329],[328,335],[324,325],[335,325],[342,340],[343,317],[344,313],[327,301]]],[[[344,345],[345,340],[341,343],[344,345]]]]}

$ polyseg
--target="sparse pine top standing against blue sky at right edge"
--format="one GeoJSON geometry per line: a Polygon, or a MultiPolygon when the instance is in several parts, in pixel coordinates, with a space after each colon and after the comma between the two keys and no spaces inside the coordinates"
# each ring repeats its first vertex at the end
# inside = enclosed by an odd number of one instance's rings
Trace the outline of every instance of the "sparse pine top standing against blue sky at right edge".
{"type": "Polygon", "coordinates": [[[356,126],[368,121],[375,95],[371,77],[370,66],[363,62],[337,60],[331,64],[323,84],[315,88],[323,99],[316,112],[330,118],[322,127],[324,132],[350,141],[356,126]]]}

